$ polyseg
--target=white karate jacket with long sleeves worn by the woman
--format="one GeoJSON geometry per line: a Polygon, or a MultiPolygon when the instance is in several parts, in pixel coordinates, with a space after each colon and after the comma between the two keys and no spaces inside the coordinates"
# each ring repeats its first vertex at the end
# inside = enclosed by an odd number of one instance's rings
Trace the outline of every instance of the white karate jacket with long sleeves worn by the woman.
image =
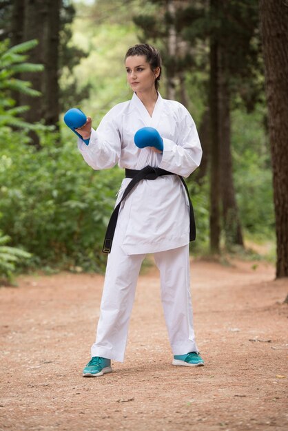
{"type": "MultiPolygon", "coordinates": [[[[176,101],[158,94],[152,117],[133,94],[119,103],[92,129],[90,143],[78,140],[79,151],[93,169],[160,167],[184,178],[200,165],[202,149],[192,116],[176,101]],[[163,138],[163,154],[134,144],[134,134],[142,127],[154,127],[163,138]]],[[[116,204],[130,178],[124,178],[116,204]]],[[[193,197],[192,197],[193,200],[193,197]]],[[[116,229],[123,234],[125,253],[155,253],[189,243],[189,201],[181,180],[167,175],[143,180],[121,204],[116,229]]]]}

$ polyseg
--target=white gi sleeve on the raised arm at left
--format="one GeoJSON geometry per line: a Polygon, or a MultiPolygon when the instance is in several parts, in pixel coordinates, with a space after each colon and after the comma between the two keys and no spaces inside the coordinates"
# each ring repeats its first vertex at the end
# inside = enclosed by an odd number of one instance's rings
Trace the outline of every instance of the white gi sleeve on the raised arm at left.
{"type": "Polygon", "coordinates": [[[113,109],[103,117],[96,130],[92,129],[89,145],[79,138],[78,148],[93,169],[108,169],[119,162],[121,136],[113,109]]]}

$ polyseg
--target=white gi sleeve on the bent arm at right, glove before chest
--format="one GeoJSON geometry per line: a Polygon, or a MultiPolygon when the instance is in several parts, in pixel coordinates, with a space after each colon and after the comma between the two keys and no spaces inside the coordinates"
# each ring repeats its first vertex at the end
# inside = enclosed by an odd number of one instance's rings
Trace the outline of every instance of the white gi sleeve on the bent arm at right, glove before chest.
{"type": "Polygon", "coordinates": [[[200,165],[202,149],[196,125],[187,109],[179,104],[180,133],[173,140],[163,138],[163,156],[159,167],[188,177],[200,165]]]}

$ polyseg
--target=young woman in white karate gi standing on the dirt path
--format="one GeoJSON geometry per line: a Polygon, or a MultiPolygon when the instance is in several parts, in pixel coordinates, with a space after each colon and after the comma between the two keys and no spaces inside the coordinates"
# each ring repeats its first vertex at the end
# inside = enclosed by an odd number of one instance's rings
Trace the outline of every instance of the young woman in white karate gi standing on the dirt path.
{"type": "Polygon", "coordinates": [[[114,222],[114,238],[105,241],[104,251],[110,254],[101,313],[84,377],[111,372],[111,359],[123,362],[136,282],[146,253],[154,253],[161,274],[161,300],[174,354],[172,364],[204,365],[194,339],[189,283],[192,213],[181,180],[200,165],[198,134],[187,109],[176,101],[164,100],[158,93],[161,57],[155,48],[147,44],[130,48],[125,67],[127,82],[134,92],[131,101],[113,107],[96,130],[92,129],[90,117],[77,129],[83,139],[90,138],[89,145],[79,139],[79,150],[88,165],[107,169],[118,163],[125,168],[126,178],[116,205],[127,185],[134,181],[132,178],[141,170],[142,175],[143,168],[149,171],[124,196],[114,222]],[[136,137],[134,142],[139,129],[140,145],[136,137]],[[151,132],[155,140],[150,139],[151,132]]]}

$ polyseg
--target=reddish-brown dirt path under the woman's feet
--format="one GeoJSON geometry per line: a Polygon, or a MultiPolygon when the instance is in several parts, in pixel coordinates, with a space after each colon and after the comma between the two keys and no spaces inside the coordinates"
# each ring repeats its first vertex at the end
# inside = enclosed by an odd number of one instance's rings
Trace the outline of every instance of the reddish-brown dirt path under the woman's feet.
{"type": "Polygon", "coordinates": [[[205,367],[172,366],[152,268],[138,282],[124,364],[84,379],[100,275],[0,289],[0,430],[287,430],[287,280],[268,264],[192,262],[205,367]]]}

